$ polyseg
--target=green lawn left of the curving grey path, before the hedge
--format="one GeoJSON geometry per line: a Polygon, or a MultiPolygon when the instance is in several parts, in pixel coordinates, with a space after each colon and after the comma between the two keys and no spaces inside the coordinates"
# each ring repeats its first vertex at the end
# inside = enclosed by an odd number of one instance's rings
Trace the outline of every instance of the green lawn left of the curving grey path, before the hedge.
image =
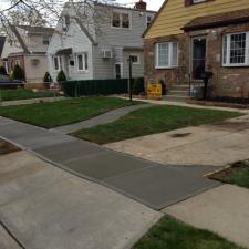
{"type": "Polygon", "coordinates": [[[115,97],[84,97],[53,103],[0,107],[0,115],[37,126],[52,128],[84,121],[107,111],[136,104],[115,97]]]}

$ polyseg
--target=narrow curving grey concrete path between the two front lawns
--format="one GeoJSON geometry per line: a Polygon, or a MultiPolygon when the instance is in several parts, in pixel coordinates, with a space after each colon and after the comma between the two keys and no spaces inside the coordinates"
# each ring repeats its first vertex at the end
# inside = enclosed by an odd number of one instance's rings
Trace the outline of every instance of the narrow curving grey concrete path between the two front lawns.
{"type": "Polygon", "coordinates": [[[126,114],[128,114],[133,111],[141,110],[141,108],[147,108],[149,106],[153,106],[153,104],[125,106],[123,108],[117,108],[117,110],[113,110],[111,112],[104,113],[102,115],[98,115],[98,116],[93,117],[93,118],[87,120],[87,121],[82,121],[82,122],[79,122],[79,123],[75,123],[75,124],[60,126],[60,127],[56,127],[56,128],[53,128],[53,129],[62,132],[64,134],[69,134],[69,133],[80,131],[82,128],[90,128],[90,127],[93,127],[93,126],[112,123],[112,122],[121,118],[122,116],[124,116],[124,115],[126,115],[126,114]]]}

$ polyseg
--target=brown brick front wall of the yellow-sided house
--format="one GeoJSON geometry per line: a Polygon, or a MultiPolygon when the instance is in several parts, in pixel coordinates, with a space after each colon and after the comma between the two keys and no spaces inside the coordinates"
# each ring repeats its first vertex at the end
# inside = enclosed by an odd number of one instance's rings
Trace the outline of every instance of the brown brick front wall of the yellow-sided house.
{"type": "Polygon", "coordinates": [[[166,80],[167,85],[188,82],[190,66],[191,37],[207,35],[206,68],[214,72],[211,80],[212,96],[249,97],[249,66],[222,66],[222,35],[232,32],[249,31],[249,23],[229,25],[217,29],[188,32],[179,35],[162,37],[145,40],[145,79],[146,81],[166,80]],[[155,69],[155,44],[158,42],[178,42],[178,68],[167,70],[155,69]]]}

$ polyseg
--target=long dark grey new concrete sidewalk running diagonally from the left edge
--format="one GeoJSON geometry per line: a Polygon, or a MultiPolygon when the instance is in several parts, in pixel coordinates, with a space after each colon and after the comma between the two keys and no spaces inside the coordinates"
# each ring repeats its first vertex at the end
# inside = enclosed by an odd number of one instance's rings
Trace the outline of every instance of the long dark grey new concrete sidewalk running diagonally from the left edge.
{"type": "Polygon", "coordinates": [[[53,165],[162,209],[211,187],[211,166],[166,166],[115,153],[55,131],[0,117],[0,136],[53,165]]]}

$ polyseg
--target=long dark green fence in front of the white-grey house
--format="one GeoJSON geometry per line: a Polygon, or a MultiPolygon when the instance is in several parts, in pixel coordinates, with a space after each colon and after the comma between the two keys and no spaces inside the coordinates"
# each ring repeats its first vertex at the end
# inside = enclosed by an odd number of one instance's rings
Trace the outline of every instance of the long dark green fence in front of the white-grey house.
{"type": "MultiPolygon", "coordinates": [[[[143,79],[133,79],[133,82],[144,81],[143,79]]],[[[68,96],[91,96],[91,95],[111,95],[128,92],[128,80],[89,80],[89,81],[65,81],[62,87],[68,96]]],[[[135,85],[134,85],[135,86],[135,85]]]]}

